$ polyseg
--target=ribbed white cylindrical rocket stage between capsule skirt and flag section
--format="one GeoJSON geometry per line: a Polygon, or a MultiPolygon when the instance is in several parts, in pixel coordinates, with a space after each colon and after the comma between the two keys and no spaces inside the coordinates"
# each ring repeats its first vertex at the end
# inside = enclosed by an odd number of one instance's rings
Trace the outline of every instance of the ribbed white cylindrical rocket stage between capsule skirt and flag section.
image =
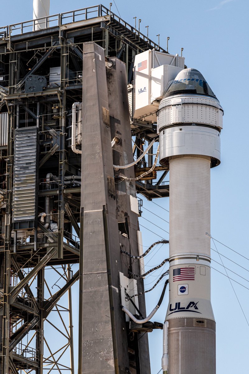
{"type": "Polygon", "coordinates": [[[169,257],[210,257],[210,157],[172,159],[169,173],[169,257]]]}

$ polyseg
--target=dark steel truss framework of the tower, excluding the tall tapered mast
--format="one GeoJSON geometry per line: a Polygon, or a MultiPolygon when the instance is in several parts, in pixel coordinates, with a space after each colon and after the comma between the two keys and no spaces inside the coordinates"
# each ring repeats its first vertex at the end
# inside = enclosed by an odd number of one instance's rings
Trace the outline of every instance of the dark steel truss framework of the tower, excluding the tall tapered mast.
{"type": "MultiPolygon", "coordinates": [[[[152,48],[164,51],[102,5],[49,16],[49,27],[44,30],[32,31],[33,25],[34,21],[28,21],[0,28],[0,110],[8,113],[7,140],[0,145],[1,374],[75,372],[71,287],[82,272],[75,264],[80,262],[83,238],[78,226],[81,188],[72,178],[80,177],[81,157],[70,147],[70,108],[73,102],[82,101],[83,43],[95,42],[104,48],[106,59],[118,56],[125,62],[128,83],[137,53],[152,48]],[[57,67],[57,80],[52,81],[50,69],[57,67]],[[49,82],[39,92],[24,88],[27,78],[35,74],[49,82]],[[32,223],[14,223],[14,135],[16,129],[29,126],[37,129],[39,147],[37,215],[32,223]],[[56,178],[48,180],[49,173],[56,178]],[[38,218],[46,204],[47,223],[55,229],[38,218]],[[53,284],[59,285],[57,292],[53,284]],[[55,313],[57,318],[52,318],[55,313]],[[48,327],[62,337],[53,335],[53,350],[48,327]]],[[[146,122],[134,123],[132,135],[134,154],[140,156],[144,142],[152,141],[156,129],[146,122]]],[[[152,156],[148,164],[142,159],[136,173],[149,169],[152,162],[152,156]]],[[[169,186],[162,184],[168,171],[160,168],[162,176],[156,183],[152,179],[136,182],[137,191],[148,199],[169,194],[169,186]]]]}

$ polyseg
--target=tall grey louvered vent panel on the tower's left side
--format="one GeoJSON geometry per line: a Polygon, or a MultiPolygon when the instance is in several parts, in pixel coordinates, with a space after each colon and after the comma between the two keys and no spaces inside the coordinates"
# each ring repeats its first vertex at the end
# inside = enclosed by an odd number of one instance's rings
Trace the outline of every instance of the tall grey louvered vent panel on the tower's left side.
{"type": "Polygon", "coordinates": [[[13,222],[35,219],[37,185],[37,128],[15,130],[13,222]]]}

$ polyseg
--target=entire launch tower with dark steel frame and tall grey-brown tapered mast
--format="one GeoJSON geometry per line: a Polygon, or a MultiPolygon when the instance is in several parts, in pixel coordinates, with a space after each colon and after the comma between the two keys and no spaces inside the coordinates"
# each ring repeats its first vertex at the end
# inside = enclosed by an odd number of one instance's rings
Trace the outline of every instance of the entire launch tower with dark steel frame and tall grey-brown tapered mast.
{"type": "MultiPolygon", "coordinates": [[[[120,246],[139,254],[131,201],[168,196],[168,169],[135,181],[153,148],[132,171],[113,165],[157,137],[156,125],[132,118],[133,64],[166,51],[103,5],[44,23],[0,28],[0,373],[150,373],[142,334],[161,326],[126,322],[119,273],[140,266],[120,246]]],[[[146,315],[144,296],[138,304],[146,315]]]]}

